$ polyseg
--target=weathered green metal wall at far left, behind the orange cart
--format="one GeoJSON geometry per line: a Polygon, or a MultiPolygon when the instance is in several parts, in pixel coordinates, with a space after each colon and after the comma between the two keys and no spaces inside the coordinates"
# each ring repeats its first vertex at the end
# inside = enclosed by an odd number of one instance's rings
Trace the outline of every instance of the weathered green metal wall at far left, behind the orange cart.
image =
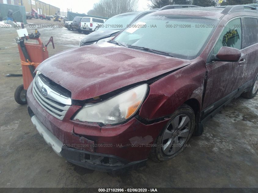
{"type": "Polygon", "coordinates": [[[9,9],[11,9],[13,11],[13,19],[14,20],[23,22],[24,24],[27,24],[26,12],[25,12],[24,6],[0,3],[0,13],[2,13],[3,20],[6,20],[9,9]]]}

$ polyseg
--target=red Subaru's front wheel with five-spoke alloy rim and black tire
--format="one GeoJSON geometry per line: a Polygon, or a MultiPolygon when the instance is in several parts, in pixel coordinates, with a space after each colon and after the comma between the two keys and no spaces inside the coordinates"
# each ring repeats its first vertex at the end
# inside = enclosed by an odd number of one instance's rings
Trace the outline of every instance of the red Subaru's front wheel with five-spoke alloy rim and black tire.
{"type": "Polygon", "coordinates": [[[191,138],[194,126],[194,110],[189,105],[181,105],[170,116],[168,124],[154,141],[150,158],[155,162],[164,162],[176,157],[191,138]]]}

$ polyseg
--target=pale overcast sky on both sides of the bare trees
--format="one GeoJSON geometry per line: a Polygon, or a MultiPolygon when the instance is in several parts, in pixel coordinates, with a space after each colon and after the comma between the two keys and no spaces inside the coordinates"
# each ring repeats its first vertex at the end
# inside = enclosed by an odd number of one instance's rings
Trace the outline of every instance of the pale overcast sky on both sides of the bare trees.
{"type": "MultiPolygon", "coordinates": [[[[72,12],[87,13],[93,8],[93,4],[99,2],[99,0],[41,0],[42,2],[54,5],[60,8],[60,12],[66,12],[67,8],[72,9],[72,12]]],[[[126,0],[124,0],[126,1],[126,0]]],[[[148,0],[138,0],[138,11],[148,9],[147,4],[150,4],[148,0]]]]}

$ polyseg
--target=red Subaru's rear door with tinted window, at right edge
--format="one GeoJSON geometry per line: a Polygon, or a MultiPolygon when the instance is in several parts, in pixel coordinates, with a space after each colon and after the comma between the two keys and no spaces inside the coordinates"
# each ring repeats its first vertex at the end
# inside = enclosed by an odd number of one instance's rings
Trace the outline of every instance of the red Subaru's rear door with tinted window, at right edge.
{"type": "Polygon", "coordinates": [[[244,64],[244,73],[242,81],[245,88],[251,87],[253,79],[258,73],[258,20],[256,17],[243,17],[243,53],[245,53],[246,62],[244,64]]]}

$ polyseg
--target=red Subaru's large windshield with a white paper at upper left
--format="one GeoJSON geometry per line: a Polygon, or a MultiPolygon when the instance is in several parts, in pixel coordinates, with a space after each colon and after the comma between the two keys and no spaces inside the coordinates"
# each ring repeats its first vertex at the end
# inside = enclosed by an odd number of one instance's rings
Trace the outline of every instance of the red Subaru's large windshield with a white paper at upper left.
{"type": "Polygon", "coordinates": [[[147,15],[119,34],[114,41],[194,59],[203,50],[219,20],[180,15],[147,15]]]}

